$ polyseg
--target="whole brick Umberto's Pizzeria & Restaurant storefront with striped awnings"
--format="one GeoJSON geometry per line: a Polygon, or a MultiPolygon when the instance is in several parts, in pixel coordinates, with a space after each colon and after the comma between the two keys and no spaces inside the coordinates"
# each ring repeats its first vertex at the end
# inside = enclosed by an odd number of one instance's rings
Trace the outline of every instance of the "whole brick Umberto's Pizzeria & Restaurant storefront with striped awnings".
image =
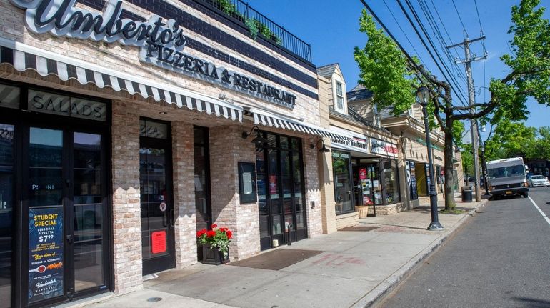
{"type": "Polygon", "coordinates": [[[141,2],[0,0],[0,307],[139,289],[213,223],[232,260],[321,233],[310,144],[345,137],[313,64],[202,1],[141,2]]]}

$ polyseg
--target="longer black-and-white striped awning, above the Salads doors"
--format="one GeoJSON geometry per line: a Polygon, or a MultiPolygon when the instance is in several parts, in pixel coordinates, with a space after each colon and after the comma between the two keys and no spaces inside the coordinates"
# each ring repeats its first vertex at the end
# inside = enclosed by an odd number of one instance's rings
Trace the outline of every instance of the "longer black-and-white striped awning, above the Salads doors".
{"type": "Polygon", "coordinates": [[[170,84],[160,84],[103,66],[89,64],[51,51],[0,38],[0,64],[11,64],[18,71],[34,69],[41,76],[54,74],[61,80],[76,79],[80,84],[110,87],[115,91],[140,94],[147,99],[166,101],[182,108],[242,121],[243,108],[170,84]]]}

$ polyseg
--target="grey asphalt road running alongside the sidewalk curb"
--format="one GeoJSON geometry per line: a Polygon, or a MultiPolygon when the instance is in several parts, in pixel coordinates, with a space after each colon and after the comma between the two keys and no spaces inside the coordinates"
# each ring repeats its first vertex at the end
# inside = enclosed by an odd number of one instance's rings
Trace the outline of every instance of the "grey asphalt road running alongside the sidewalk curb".
{"type": "MultiPolygon", "coordinates": [[[[529,197],[550,217],[550,187],[529,197]]],[[[379,307],[550,307],[550,222],[529,198],[489,201],[379,307]]]]}

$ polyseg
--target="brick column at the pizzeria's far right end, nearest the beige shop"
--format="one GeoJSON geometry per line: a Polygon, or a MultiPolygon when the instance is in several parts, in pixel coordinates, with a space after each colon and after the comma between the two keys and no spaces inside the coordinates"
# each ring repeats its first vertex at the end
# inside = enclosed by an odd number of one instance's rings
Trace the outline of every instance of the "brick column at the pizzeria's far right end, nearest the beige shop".
{"type": "MultiPolygon", "coordinates": [[[[309,143],[305,142],[304,139],[303,153],[304,175],[306,178],[306,204],[304,206],[307,211],[306,217],[308,237],[312,237],[316,234],[323,234],[323,222],[321,219],[321,183],[319,181],[319,158],[317,155],[319,153],[319,149],[317,149],[317,147],[311,149],[309,143]]],[[[334,206],[332,209],[334,211],[334,206]]],[[[336,223],[336,220],[334,220],[334,223],[336,223]]]]}

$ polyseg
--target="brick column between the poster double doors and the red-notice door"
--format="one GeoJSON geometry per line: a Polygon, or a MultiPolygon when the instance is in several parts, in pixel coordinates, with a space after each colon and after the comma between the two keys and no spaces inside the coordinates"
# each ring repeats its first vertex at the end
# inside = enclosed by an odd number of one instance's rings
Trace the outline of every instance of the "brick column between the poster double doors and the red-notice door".
{"type": "Polygon", "coordinates": [[[132,103],[113,101],[113,262],[116,294],[143,287],[139,194],[139,115],[132,103]]]}

